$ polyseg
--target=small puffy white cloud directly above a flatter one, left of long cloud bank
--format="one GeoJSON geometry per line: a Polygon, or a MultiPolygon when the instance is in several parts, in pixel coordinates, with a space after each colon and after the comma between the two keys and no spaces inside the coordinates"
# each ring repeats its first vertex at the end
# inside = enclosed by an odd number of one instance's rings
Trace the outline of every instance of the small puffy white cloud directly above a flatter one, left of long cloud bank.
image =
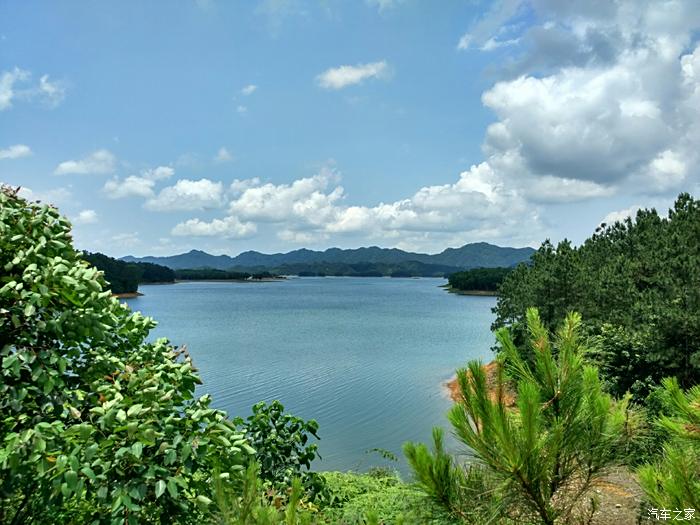
{"type": "Polygon", "coordinates": [[[223,206],[224,189],[220,182],[209,179],[178,180],[146,201],[146,208],[155,211],[202,210],[223,206]]]}

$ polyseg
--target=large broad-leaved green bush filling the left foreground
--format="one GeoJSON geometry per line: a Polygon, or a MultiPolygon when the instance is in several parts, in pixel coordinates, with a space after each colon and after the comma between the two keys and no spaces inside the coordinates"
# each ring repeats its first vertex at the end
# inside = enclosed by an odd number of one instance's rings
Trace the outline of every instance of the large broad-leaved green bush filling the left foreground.
{"type": "Polygon", "coordinates": [[[111,297],[50,206],[0,191],[0,522],[195,523],[254,450],[111,297]]]}

